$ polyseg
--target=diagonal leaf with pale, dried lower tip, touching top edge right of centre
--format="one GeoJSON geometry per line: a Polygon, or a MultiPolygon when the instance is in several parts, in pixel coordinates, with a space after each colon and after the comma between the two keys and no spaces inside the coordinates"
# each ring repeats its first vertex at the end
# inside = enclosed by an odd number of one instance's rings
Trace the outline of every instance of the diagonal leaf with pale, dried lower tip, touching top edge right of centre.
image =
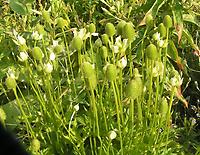
{"type": "Polygon", "coordinates": [[[148,15],[152,15],[154,18],[156,17],[158,10],[165,4],[166,0],[156,0],[153,6],[149,9],[149,11],[145,14],[144,18],[140,22],[139,26],[146,25],[145,20],[148,15]]]}

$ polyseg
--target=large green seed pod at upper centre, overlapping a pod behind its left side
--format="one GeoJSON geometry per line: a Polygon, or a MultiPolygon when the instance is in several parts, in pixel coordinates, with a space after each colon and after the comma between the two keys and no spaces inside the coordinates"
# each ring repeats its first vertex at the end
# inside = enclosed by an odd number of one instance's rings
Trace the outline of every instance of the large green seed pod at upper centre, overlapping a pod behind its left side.
{"type": "Polygon", "coordinates": [[[133,24],[131,22],[124,25],[122,36],[129,41],[133,40],[133,38],[135,37],[135,29],[133,28],[133,24]]]}

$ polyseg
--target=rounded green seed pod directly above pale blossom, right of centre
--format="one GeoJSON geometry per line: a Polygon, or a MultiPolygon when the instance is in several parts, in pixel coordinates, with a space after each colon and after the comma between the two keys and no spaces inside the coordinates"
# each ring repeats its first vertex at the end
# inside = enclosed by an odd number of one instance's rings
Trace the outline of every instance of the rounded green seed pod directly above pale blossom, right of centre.
{"type": "Polygon", "coordinates": [[[146,48],[146,57],[150,60],[156,60],[158,57],[157,47],[154,44],[150,44],[146,48]]]}

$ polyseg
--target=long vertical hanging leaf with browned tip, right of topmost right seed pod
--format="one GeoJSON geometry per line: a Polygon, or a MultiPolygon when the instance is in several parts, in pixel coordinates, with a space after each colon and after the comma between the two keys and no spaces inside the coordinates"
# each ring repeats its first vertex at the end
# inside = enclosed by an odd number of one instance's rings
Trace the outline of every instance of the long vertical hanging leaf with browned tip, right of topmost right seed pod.
{"type": "Polygon", "coordinates": [[[173,4],[172,13],[174,16],[174,27],[176,29],[176,32],[178,34],[178,43],[180,43],[183,33],[183,7],[179,4],[179,2],[176,0],[173,4]]]}

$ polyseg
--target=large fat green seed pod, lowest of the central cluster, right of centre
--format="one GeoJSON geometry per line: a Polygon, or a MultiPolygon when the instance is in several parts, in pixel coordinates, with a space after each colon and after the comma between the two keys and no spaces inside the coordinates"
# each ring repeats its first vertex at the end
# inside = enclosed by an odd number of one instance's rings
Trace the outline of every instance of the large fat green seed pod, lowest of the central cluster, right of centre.
{"type": "Polygon", "coordinates": [[[135,100],[137,97],[142,95],[143,84],[141,78],[137,77],[130,80],[126,86],[126,96],[135,100]]]}

